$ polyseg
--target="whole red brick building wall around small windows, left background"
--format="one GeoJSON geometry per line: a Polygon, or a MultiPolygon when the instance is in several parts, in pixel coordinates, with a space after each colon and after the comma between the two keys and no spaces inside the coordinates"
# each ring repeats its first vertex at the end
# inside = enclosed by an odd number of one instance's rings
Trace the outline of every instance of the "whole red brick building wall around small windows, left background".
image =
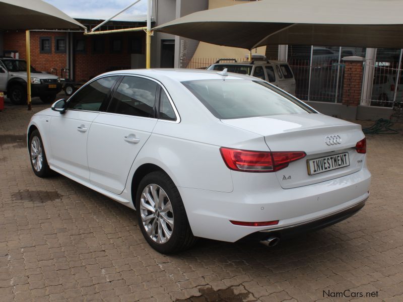
{"type": "MultiPolygon", "coordinates": [[[[67,55],[54,53],[55,37],[65,36],[58,32],[31,32],[31,65],[39,70],[50,72],[51,68],[57,68],[60,75],[61,68],[66,68],[67,55]],[[40,53],[40,37],[51,37],[51,53],[40,53]]],[[[77,82],[87,82],[96,75],[123,67],[130,68],[129,39],[140,37],[142,40],[142,52],[145,53],[145,34],[143,32],[129,32],[124,34],[107,34],[102,36],[84,36],[75,33],[74,39],[85,39],[85,52],[73,54],[74,79],[77,82]],[[104,53],[94,53],[93,39],[104,39],[104,53]],[[111,40],[115,37],[122,39],[121,53],[111,53],[111,40]]],[[[75,41],[73,41],[75,43],[75,41]]],[[[75,45],[75,44],[73,44],[75,45]]],[[[20,59],[26,59],[25,32],[7,32],[4,35],[4,50],[17,50],[20,59]]]]}

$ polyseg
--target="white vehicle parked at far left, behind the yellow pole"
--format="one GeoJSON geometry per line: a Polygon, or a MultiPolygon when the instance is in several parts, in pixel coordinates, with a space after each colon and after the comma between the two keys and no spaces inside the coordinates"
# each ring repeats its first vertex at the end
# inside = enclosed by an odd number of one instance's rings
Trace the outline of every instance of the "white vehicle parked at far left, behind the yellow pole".
{"type": "MultiPolygon", "coordinates": [[[[27,102],[27,62],[13,58],[0,58],[0,91],[5,92],[13,104],[27,102]]],[[[31,96],[44,103],[52,103],[61,91],[56,75],[36,71],[31,66],[31,96]]]]}

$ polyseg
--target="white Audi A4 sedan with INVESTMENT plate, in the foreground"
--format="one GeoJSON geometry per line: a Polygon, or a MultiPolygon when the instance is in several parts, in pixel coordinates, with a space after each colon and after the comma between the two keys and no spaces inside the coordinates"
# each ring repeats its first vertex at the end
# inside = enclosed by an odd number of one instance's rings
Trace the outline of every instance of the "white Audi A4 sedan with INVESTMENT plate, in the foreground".
{"type": "Polygon", "coordinates": [[[161,253],[198,237],[274,246],[360,210],[369,196],[361,126],[236,73],[119,70],[28,126],[32,168],[132,209],[161,253]]]}

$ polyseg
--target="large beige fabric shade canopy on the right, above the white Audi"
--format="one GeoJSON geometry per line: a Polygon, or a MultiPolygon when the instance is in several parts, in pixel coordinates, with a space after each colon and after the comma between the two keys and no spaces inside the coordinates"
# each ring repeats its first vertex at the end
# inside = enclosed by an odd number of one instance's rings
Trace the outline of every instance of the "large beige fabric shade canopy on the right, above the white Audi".
{"type": "Polygon", "coordinates": [[[154,30],[217,45],[403,48],[402,0],[261,0],[196,12],[154,30]]]}

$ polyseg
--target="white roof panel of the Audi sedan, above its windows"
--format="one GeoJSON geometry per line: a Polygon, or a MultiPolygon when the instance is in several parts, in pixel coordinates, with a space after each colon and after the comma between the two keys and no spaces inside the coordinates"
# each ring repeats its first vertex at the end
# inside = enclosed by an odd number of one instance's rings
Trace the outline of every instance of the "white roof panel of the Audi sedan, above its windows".
{"type": "MultiPolygon", "coordinates": [[[[112,74],[133,74],[144,75],[156,80],[172,79],[177,82],[196,81],[196,80],[222,80],[223,75],[218,74],[218,71],[205,69],[174,69],[174,68],[158,68],[158,69],[127,69],[116,70],[103,73],[99,77],[112,74]]],[[[97,77],[98,78],[98,77],[97,77]]],[[[226,80],[254,80],[256,78],[249,75],[228,72],[226,80]]]]}

